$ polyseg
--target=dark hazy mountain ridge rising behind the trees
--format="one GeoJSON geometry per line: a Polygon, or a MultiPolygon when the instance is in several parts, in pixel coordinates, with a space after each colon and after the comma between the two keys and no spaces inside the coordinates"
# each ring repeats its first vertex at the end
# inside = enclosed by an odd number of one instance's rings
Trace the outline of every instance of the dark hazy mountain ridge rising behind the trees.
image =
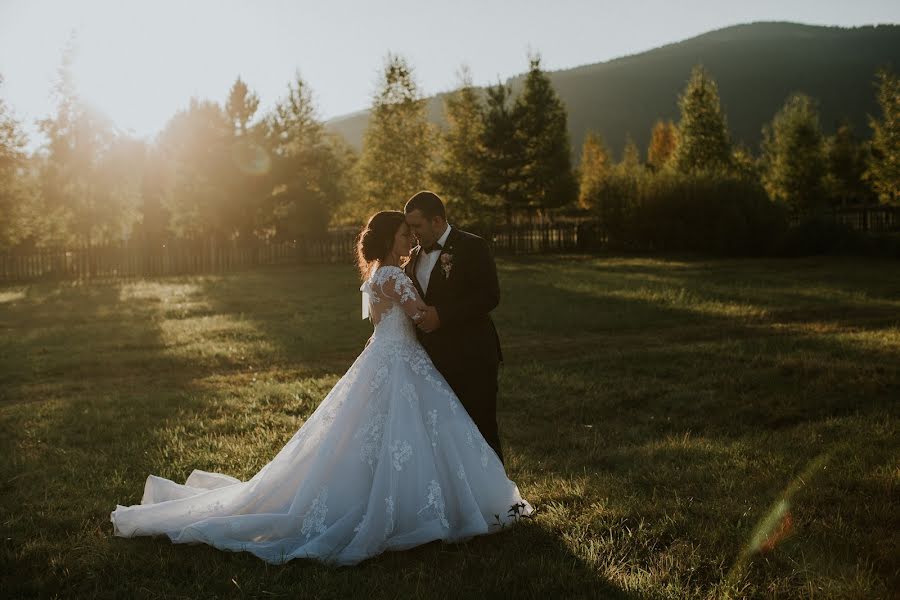
{"type": "MultiPolygon", "coordinates": [[[[826,133],[847,119],[857,135],[868,137],[868,115],[877,111],[875,72],[900,64],[900,25],[741,23],[607,61],[546,71],[569,112],[573,158],[588,130],[600,133],[617,156],[629,135],[645,150],[657,119],[677,121],[678,94],[695,64],[703,64],[716,80],[733,140],[754,153],[762,126],[795,91],[819,103],[826,133]]],[[[516,93],[524,77],[514,75],[506,83],[516,93]]],[[[447,93],[426,99],[428,118],[438,125],[447,93]]],[[[359,149],[368,115],[368,109],[340,115],[326,126],[359,149]]]]}

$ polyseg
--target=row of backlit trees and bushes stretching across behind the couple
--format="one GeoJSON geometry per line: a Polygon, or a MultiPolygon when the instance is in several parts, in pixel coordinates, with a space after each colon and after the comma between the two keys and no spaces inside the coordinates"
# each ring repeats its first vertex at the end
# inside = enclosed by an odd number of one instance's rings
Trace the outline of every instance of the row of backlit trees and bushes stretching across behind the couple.
{"type": "Polygon", "coordinates": [[[657,122],[645,153],[629,141],[616,160],[594,132],[575,166],[566,108],[536,55],[516,93],[478,88],[461,69],[444,127],[428,121],[411,65],[388,55],[359,153],[328,132],[299,75],[267,113],[238,77],[224,103],[191,99],[152,142],[134,139],[81,102],[71,55],[39,150],[25,151],[0,98],[0,249],[315,237],[428,188],[452,221],[480,231],[568,215],[596,223],[612,247],[753,252],[789,220],[900,204],[889,70],[876,76],[881,114],[866,139],[846,123],[826,136],[815,101],[797,93],[754,153],[731,140],[716,83],[697,66],[678,122],[657,122]]]}

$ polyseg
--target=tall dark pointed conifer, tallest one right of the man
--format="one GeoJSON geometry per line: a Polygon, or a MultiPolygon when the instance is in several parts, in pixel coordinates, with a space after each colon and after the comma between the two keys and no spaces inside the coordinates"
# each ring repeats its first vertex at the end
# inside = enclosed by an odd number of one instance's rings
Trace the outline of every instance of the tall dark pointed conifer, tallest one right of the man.
{"type": "Polygon", "coordinates": [[[522,93],[513,107],[524,152],[522,193],[540,211],[572,204],[578,183],[572,172],[566,108],[541,70],[541,59],[530,59],[522,93]]]}

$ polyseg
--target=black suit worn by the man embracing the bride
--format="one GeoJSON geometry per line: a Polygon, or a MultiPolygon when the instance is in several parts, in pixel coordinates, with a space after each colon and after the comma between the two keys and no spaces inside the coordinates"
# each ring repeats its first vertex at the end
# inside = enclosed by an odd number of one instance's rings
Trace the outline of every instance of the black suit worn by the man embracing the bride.
{"type": "Polygon", "coordinates": [[[450,229],[440,253],[427,293],[416,277],[420,247],[413,249],[406,266],[425,304],[434,306],[441,320],[431,333],[419,330],[419,341],[502,462],[497,370],[503,355],[489,314],[500,303],[497,267],[484,239],[456,228],[450,229]]]}

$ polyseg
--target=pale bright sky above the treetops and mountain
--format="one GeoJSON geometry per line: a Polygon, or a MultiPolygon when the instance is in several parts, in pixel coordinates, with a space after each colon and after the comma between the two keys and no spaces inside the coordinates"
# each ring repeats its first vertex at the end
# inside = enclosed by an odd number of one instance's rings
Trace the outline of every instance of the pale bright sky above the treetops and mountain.
{"type": "Polygon", "coordinates": [[[0,0],[0,97],[34,121],[74,31],[79,93],[122,129],[152,136],[191,96],[224,103],[240,75],[266,110],[295,72],[329,119],[366,108],[387,52],[426,95],[521,73],[529,50],[556,70],[753,21],[900,22],[896,0],[0,0]]]}

